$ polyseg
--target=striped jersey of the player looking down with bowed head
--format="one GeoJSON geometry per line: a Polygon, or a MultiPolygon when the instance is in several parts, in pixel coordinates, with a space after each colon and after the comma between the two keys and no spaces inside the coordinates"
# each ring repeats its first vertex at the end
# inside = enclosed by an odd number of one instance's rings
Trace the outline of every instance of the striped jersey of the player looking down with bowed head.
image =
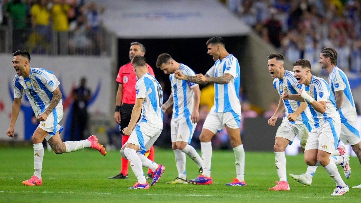
{"type": "MultiPolygon", "coordinates": [[[[188,66],[181,64],[179,67],[184,75],[196,75],[188,66]]],[[[174,73],[169,75],[170,84],[173,92],[173,118],[188,117],[192,115],[194,105],[193,87],[198,86],[197,83],[176,79],[174,73]]]]}

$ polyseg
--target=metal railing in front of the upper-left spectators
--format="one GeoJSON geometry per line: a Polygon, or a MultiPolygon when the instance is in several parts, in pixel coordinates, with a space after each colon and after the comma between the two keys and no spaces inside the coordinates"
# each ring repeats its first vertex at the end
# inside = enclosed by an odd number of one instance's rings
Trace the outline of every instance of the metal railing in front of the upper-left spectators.
{"type": "MultiPolygon", "coordinates": [[[[29,22],[30,23],[30,22],[29,22]]],[[[31,23],[28,25],[31,25],[31,23]]],[[[40,55],[91,55],[110,56],[112,34],[104,27],[96,31],[85,25],[74,31],[58,32],[52,26],[13,28],[12,21],[0,26],[0,53],[13,53],[25,49],[40,55]]]]}

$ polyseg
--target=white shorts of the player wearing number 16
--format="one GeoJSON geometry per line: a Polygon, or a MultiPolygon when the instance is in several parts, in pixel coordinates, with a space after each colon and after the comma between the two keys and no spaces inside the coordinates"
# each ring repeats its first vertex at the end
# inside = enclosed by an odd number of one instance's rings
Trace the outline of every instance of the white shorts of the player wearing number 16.
{"type": "Polygon", "coordinates": [[[135,126],[126,143],[137,145],[139,147],[138,152],[144,154],[151,148],[161,132],[161,129],[153,128],[148,123],[141,121],[135,126]]]}

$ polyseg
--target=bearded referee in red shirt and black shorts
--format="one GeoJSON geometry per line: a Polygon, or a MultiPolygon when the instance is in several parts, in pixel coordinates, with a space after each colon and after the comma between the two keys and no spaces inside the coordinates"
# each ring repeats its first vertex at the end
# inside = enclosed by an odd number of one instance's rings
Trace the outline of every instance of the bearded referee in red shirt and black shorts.
{"type": "MultiPolygon", "coordinates": [[[[130,61],[134,56],[145,55],[145,47],[139,42],[130,43],[129,48],[129,59],[130,61]]],[[[154,77],[153,69],[150,65],[147,64],[148,72],[154,77]]],[[[121,132],[126,126],[128,126],[130,121],[130,116],[132,109],[135,104],[135,83],[136,75],[133,71],[133,66],[131,62],[120,67],[117,79],[118,82],[118,91],[116,96],[116,108],[114,112],[114,120],[119,124],[119,131],[121,132]]],[[[128,135],[122,134],[122,146],[129,139],[128,135]]],[[[153,146],[146,153],[148,159],[154,161],[154,148],[153,146]]],[[[128,160],[122,157],[122,168],[118,175],[109,177],[110,179],[127,179],[128,178],[128,160]]],[[[152,171],[148,170],[148,178],[152,178],[152,171]]]]}

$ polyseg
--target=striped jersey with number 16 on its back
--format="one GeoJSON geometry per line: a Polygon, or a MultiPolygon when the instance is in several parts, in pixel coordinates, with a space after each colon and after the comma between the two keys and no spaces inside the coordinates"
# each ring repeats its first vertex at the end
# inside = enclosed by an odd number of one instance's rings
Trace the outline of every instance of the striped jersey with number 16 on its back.
{"type": "Polygon", "coordinates": [[[144,98],[142,118],[153,128],[163,129],[163,91],[158,81],[145,73],[135,84],[136,99],[144,98]]]}

